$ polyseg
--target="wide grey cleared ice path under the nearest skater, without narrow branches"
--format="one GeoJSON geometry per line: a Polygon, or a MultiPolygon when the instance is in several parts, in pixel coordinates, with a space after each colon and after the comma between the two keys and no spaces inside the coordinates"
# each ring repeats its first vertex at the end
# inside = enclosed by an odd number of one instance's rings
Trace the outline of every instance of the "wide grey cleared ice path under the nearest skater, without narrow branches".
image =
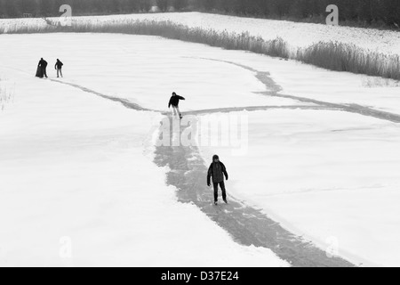
{"type": "Polygon", "coordinates": [[[324,250],[284,230],[260,210],[248,207],[234,197],[228,197],[228,205],[214,206],[212,191],[205,185],[207,169],[196,146],[160,146],[155,152],[156,165],[170,169],[166,182],[178,189],[178,199],[194,203],[236,242],[270,248],[292,266],[354,266],[340,257],[328,257],[324,250]]]}

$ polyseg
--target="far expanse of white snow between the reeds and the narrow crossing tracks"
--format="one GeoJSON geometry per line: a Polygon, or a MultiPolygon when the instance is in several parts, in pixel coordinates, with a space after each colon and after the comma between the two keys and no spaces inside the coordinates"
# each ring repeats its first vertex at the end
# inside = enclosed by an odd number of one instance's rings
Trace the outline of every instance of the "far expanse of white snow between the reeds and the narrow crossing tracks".
{"type": "Polygon", "coordinates": [[[0,65],[9,70],[35,74],[37,61],[44,57],[50,63],[50,74],[55,75],[53,64],[60,58],[66,62],[64,73],[68,82],[126,98],[152,110],[165,110],[173,91],[187,97],[188,101],[182,105],[184,110],[297,103],[257,94],[268,91],[266,86],[253,72],[222,62],[232,61],[270,72],[276,83],[284,86],[283,94],[356,103],[400,114],[398,87],[369,88],[365,81],[375,77],[317,69],[296,61],[279,61],[160,37],[36,34],[3,35],[2,38],[4,46],[5,43],[9,46],[4,48],[7,53],[0,54],[0,65]],[[58,46],[50,45],[52,41],[58,46]],[[26,42],[32,43],[29,53],[26,42]],[[10,57],[10,53],[18,56],[10,57]]]}

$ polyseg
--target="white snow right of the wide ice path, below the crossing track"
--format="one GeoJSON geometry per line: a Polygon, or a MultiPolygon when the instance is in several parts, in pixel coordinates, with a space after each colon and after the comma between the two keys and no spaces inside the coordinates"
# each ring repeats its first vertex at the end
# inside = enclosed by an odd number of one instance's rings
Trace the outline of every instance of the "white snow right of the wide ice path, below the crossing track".
{"type": "Polygon", "coordinates": [[[292,232],[356,264],[400,264],[400,126],[331,110],[268,110],[248,116],[248,151],[203,147],[228,167],[228,191],[292,232]]]}

